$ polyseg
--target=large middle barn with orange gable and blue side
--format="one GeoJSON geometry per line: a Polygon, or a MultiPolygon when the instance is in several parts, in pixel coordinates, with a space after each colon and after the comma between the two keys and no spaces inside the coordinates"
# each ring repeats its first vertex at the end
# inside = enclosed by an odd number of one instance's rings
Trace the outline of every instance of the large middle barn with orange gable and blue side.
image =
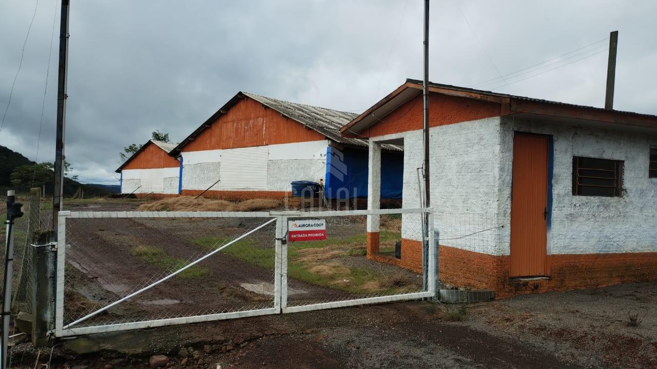
{"type": "MultiPolygon", "coordinates": [[[[368,142],[340,135],[356,116],[237,93],[171,150],[182,167],[181,194],[283,200],[293,181],[312,181],[329,199],[365,198],[368,142]]],[[[401,198],[401,147],[384,152],[391,181],[382,197],[401,198]]]]}

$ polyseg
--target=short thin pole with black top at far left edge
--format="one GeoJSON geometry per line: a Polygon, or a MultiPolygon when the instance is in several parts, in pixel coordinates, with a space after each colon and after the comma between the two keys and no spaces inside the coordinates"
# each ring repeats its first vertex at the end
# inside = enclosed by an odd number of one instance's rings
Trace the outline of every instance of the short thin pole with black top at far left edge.
{"type": "Polygon", "coordinates": [[[16,202],[16,193],[7,191],[7,233],[5,234],[5,275],[3,278],[2,305],[2,349],[0,350],[0,369],[7,368],[7,347],[9,345],[9,318],[11,318],[11,284],[14,271],[14,219],[22,217],[22,204],[16,202]]]}

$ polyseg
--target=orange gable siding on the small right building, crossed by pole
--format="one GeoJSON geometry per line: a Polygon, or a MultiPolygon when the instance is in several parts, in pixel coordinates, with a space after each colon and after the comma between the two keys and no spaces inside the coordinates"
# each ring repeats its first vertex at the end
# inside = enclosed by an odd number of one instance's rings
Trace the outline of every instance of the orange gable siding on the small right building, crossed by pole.
{"type": "MultiPolygon", "coordinates": [[[[429,123],[431,127],[461,123],[500,116],[500,104],[433,93],[429,95],[429,123]]],[[[411,98],[405,104],[362,132],[366,137],[376,137],[422,129],[422,95],[411,98]]]]}

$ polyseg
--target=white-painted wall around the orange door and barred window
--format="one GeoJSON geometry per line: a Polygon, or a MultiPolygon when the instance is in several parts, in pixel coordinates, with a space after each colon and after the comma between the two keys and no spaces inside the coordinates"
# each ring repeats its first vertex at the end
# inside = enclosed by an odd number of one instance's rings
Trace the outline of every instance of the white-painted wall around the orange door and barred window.
{"type": "MultiPolygon", "coordinates": [[[[502,119],[499,221],[510,222],[513,132],[553,135],[552,223],[548,253],[657,251],[657,179],[648,178],[657,136],[502,119]],[[573,196],[572,157],[624,160],[623,196],[573,196]]],[[[509,228],[503,234],[509,245],[509,228]]],[[[509,250],[505,250],[508,254],[509,250]]]]}

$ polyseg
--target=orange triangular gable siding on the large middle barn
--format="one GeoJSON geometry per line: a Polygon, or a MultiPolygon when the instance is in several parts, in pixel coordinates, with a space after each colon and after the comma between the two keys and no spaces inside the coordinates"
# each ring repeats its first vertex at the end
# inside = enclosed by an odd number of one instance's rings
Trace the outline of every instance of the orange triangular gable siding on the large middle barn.
{"type": "Polygon", "coordinates": [[[294,119],[285,118],[276,110],[244,97],[211,123],[183,151],[217,150],[320,141],[323,135],[306,128],[294,119]]]}

